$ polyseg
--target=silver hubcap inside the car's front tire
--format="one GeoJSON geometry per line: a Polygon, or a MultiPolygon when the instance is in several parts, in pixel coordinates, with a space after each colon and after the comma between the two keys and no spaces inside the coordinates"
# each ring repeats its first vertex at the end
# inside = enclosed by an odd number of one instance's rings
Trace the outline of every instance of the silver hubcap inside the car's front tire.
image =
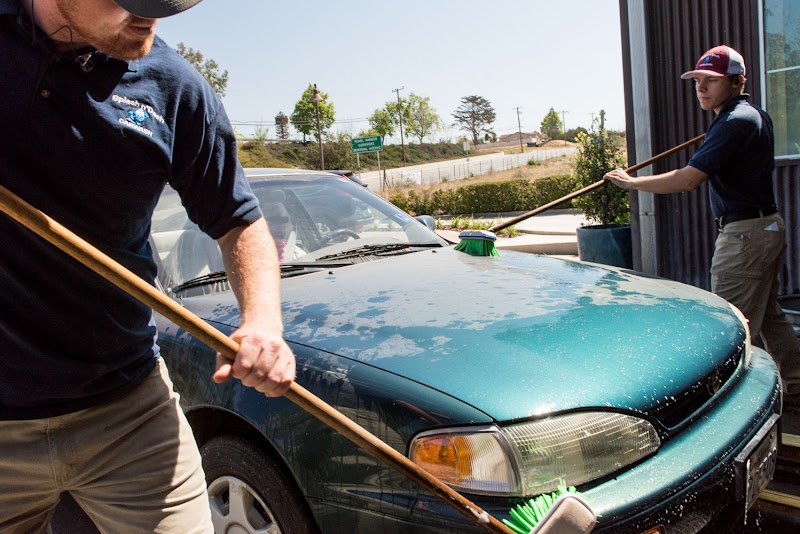
{"type": "Polygon", "coordinates": [[[280,534],[275,516],[249,484],[220,477],[208,486],[215,534],[280,534]]]}

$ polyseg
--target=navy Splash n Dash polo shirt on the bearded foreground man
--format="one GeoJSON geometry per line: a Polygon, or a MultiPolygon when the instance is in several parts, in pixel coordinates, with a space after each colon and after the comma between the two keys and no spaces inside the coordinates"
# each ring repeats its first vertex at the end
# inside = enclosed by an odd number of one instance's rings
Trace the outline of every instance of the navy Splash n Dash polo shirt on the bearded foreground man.
{"type": "MultiPolygon", "coordinates": [[[[0,0],[0,184],[152,283],[164,185],[211,237],[261,216],[218,96],[161,39],[140,60],[56,52],[0,0]]],[[[158,356],[152,311],[0,215],[0,419],[80,410],[158,356]]]]}

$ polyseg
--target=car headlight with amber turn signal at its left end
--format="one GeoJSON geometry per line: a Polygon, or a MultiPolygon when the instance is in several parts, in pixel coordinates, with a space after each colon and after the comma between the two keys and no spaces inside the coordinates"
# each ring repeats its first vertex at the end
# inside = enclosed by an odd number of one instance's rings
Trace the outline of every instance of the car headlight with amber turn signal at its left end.
{"type": "Polygon", "coordinates": [[[486,495],[539,495],[619,471],[661,445],[638,417],[588,412],[505,427],[420,434],[410,458],[454,488],[486,495]]]}

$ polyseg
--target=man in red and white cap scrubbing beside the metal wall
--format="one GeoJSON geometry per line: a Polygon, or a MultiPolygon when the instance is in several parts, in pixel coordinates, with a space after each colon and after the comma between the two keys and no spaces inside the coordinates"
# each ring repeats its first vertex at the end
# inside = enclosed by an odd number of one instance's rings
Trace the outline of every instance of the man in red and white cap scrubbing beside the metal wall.
{"type": "Polygon", "coordinates": [[[772,120],[747,101],[744,58],[717,46],[681,78],[695,82],[704,110],[716,114],[703,145],[686,167],[632,178],[616,169],[615,185],[650,193],[692,191],[709,181],[719,236],[711,261],[711,289],[739,308],[781,371],[784,406],[800,407],[800,348],[778,304],[778,273],[786,249],[783,218],[775,205],[772,120]]]}

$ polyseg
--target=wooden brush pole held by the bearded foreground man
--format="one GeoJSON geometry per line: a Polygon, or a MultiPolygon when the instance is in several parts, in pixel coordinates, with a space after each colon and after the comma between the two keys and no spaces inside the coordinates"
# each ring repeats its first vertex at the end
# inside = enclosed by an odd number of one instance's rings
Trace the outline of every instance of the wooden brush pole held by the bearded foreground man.
{"type": "MultiPolygon", "coordinates": [[[[142,278],[2,186],[0,186],[0,210],[133,298],[181,326],[209,347],[231,360],[236,356],[239,345],[235,341],[186,308],[179,306],[142,278]]],[[[513,534],[503,523],[296,382],[292,383],[286,392],[286,397],[336,432],[439,497],[478,526],[488,532],[513,534]]]]}

